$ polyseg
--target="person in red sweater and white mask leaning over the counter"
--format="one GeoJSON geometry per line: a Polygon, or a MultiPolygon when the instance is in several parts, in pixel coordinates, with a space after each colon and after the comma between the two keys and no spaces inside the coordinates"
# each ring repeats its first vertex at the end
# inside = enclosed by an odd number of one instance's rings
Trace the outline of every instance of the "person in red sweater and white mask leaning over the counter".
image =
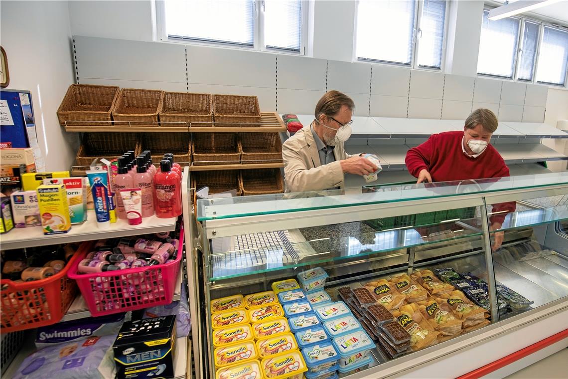
{"type": "MultiPolygon", "coordinates": [[[[433,134],[423,144],[406,153],[408,172],[421,182],[498,178],[509,176],[509,168],[489,141],[498,120],[488,109],[473,111],[462,131],[433,134]]],[[[491,216],[491,230],[499,229],[506,213],[515,203],[496,204],[491,216]]],[[[495,233],[494,251],[503,243],[503,232],[495,233]]]]}

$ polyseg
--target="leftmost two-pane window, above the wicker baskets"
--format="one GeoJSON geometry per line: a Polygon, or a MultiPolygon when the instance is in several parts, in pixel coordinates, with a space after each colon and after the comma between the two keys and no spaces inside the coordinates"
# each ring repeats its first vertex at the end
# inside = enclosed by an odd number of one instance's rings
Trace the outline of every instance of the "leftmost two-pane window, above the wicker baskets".
{"type": "Polygon", "coordinates": [[[304,53],[301,0],[165,0],[162,39],[304,53]]]}

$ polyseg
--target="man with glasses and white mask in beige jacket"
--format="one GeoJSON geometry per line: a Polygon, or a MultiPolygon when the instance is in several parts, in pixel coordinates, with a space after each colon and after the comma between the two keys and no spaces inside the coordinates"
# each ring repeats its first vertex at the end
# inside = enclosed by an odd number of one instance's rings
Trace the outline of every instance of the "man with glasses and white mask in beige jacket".
{"type": "Polygon", "coordinates": [[[367,175],[378,168],[345,152],[355,104],[339,91],[328,91],[316,105],[315,120],[282,145],[286,192],[343,188],[345,173],[367,175]]]}

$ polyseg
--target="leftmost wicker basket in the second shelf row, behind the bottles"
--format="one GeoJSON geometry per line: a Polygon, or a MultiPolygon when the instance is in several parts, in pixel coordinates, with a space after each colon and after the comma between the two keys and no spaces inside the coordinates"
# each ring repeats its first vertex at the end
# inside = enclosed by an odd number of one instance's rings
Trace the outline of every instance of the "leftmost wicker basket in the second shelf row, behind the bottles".
{"type": "Polygon", "coordinates": [[[133,150],[136,155],[141,152],[137,133],[85,133],[76,161],[78,166],[89,166],[94,159],[112,160],[129,150],[133,150]]]}

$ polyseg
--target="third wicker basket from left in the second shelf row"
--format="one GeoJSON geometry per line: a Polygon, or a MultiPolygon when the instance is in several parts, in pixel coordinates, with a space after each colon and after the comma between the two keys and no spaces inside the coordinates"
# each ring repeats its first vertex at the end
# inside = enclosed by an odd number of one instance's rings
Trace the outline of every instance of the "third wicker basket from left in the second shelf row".
{"type": "Polygon", "coordinates": [[[194,133],[191,143],[194,165],[239,163],[240,149],[236,133],[194,133]]]}

